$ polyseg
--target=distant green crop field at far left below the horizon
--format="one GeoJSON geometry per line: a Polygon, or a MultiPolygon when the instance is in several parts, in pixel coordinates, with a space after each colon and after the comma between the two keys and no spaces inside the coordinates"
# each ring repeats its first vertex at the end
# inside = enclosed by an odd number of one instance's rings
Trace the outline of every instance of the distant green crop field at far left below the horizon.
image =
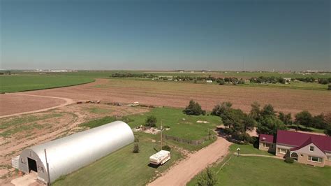
{"type": "Polygon", "coordinates": [[[0,92],[21,92],[66,87],[93,82],[93,78],[75,76],[0,76],[0,92]]]}

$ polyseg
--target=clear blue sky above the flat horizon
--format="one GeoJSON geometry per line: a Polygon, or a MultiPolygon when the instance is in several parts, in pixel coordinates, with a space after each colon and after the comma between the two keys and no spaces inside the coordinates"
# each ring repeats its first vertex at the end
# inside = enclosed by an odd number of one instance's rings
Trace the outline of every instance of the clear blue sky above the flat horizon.
{"type": "Polygon", "coordinates": [[[330,0],[0,3],[0,69],[331,68],[330,0]]]}

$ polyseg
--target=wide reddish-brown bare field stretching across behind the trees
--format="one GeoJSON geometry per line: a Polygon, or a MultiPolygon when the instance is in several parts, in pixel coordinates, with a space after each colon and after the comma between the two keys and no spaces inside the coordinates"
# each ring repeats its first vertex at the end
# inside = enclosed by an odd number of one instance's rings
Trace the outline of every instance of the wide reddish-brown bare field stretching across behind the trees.
{"type": "MultiPolygon", "coordinates": [[[[212,110],[216,103],[230,101],[234,108],[244,111],[251,109],[251,103],[258,101],[261,105],[271,103],[276,110],[286,113],[297,113],[309,110],[313,114],[331,112],[331,92],[318,90],[294,90],[270,87],[240,87],[221,85],[201,85],[193,83],[168,83],[144,80],[114,80],[97,79],[94,83],[73,87],[62,87],[50,90],[36,90],[24,92],[41,96],[60,96],[74,101],[101,100],[109,102],[132,103],[139,101],[142,104],[154,106],[170,106],[184,108],[190,99],[198,101],[203,109],[212,110]]],[[[10,95],[10,94],[8,94],[10,95]]],[[[4,96],[8,96],[4,94],[4,96]]],[[[0,95],[2,99],[3,95],[0,95]]],[[[25,106],[23,101],[31,99],[24,96],[21,105],[13,104],[10,110],[18,113],[22,106],[33,110],[40,109],[41,104],[47,106],[45,99],[34,101],[25,106]]],[[[0,110],[3,114],[3,109],[0,110]]]]}

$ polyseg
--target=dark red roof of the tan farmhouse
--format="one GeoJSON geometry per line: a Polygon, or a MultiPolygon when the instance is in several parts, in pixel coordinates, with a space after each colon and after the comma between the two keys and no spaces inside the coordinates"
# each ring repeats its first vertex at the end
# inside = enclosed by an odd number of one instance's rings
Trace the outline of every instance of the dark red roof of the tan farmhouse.
{"type": "Polygon", "coordinates": [[[295,146],[295,150],[314,143],[322,151],[331,152],[331,137],[316,134],[306,134],[296,131],[277,131],[277,143],[295,146]]]}

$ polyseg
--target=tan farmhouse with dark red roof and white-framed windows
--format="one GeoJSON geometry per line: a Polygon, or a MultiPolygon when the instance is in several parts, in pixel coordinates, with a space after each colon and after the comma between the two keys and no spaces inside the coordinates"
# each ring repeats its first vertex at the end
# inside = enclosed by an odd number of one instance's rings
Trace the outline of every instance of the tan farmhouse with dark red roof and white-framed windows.
{"type": "Polygon", "coordinates": [[[278,130],[277,136],[260,134],[259,149],[279,157],[293,157],[312,166],[331,166],[331,137],[278,130]]]}

